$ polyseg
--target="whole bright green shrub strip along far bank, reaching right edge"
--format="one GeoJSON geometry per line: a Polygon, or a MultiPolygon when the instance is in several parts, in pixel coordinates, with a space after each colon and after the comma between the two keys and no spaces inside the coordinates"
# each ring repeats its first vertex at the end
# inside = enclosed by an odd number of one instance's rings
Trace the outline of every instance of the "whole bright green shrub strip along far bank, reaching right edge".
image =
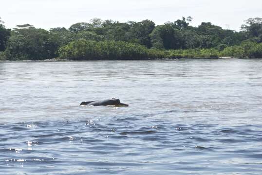
{"type": "Polygon", "coordinates": [[[59,49],[62,59],[69,60],[122,60],[161,58],[218,58],[218,57],[262,57],[262,43],[243,42],[219,51],[211,49],[148,49],[142,45],[124,41],[76,40],[59,49]]]}

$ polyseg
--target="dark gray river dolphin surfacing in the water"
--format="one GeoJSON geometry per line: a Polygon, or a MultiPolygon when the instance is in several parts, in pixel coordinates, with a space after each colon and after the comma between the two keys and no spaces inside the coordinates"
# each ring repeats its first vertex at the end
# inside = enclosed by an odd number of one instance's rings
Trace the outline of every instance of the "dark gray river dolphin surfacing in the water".
{"type": "Polygon", "coordinates": [[[93,106],[99,106],[99,105],[120,105],[120,106],[128,106],[127,104],[120,103],[119,99],[111,98],[106,100],[98,100],[98,101],[90,101],[90,102],[82,102],[80,105],[93,105],[93,106]]]}

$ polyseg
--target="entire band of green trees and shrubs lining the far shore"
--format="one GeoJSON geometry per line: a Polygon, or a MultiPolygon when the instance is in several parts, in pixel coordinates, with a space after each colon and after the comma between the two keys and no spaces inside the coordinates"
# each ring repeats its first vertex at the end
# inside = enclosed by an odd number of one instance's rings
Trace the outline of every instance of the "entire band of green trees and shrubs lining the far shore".
{"type": "Polygon", "coordinates": [[[181,57],[262,57],[262,18],[249,18],[241,31],[191,17],[155,25],[151,20],[118,22],[91,19],[69,29],[49,31],[33,25],[7,29],[0,18],[0,59],[71,60],[155,59],[181,57]]]}

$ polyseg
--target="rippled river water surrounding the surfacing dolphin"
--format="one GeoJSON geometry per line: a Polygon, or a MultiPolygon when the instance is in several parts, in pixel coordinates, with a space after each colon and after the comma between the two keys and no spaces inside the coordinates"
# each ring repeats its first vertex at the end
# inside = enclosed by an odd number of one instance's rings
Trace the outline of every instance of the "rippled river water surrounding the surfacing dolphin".
{"type": "Polygon", "coordinates": [[[0,63],[0,175],[261,173],[262,59],[0,63]]]}

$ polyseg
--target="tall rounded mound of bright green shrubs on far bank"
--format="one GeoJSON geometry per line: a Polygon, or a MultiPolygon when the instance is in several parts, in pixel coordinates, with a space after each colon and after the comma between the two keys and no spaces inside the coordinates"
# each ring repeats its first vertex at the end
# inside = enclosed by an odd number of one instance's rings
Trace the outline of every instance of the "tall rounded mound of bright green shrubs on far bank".
{"type": "Polygon", "coordinates": [[[147,58],[145,46],[124,41],[80,39],[60,48],[61,58],[72,60],[110,60],[147,58]]]}

